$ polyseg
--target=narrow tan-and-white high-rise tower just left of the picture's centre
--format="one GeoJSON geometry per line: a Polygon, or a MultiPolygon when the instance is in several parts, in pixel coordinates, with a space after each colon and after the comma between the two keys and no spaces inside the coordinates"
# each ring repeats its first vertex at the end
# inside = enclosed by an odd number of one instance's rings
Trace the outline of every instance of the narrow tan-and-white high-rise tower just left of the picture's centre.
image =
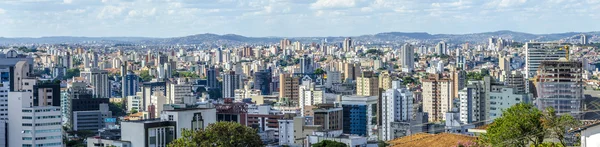
{"type": "Polygon", "coordinates": [[[291,102],[299,104],[298,101],[298,90],[300,85],[300,77],[293,76],[292,74],[280,74],[279,75],[279,98],[287,98],[291,102]]]}

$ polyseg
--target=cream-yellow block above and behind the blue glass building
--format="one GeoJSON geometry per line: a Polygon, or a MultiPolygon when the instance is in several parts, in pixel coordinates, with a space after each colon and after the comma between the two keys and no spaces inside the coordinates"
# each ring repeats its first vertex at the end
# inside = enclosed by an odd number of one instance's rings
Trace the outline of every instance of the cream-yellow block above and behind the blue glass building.
{"type": "Polygon", "coordinates": [[[356,95],[359,96],[378,96],[378,79],[372,72],[365,72],[361,77],[356,78],[356,95]]]}

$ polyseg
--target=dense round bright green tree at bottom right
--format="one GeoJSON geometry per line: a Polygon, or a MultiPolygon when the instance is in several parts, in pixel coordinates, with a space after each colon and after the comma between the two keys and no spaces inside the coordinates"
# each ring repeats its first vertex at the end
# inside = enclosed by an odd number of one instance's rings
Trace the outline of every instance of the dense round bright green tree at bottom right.
{"type": "Polygon", "coordinates": [[[544,141],[542,117],[542,112],[535,106],[516,104],[494,120],[487,133],[482,134],[482,141],[489,146],[538,146],[544,141]]]}

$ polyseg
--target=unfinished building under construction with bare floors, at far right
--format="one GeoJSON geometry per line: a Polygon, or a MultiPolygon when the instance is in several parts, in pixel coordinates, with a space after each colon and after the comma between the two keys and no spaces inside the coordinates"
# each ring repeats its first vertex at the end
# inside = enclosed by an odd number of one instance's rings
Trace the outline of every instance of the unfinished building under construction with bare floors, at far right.
{"type": "Polygon", "coordinates": [[[578,61],[542,61],[534,84],[536,106],[554,107],[559,115],[581,117],[583,100],[582,64],[578,61]]]}

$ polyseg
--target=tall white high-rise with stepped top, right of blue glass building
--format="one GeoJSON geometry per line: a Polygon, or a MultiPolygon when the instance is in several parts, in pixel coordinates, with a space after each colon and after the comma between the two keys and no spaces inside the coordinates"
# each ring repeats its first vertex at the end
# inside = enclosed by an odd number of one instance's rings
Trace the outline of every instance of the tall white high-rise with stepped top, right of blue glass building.
{"type": "Polygon", "coordinates": [[[381,140],[397,137],[392,131],[393,122],[410,123],[413,115],[413,93],[402,87],[400,81],[393,81],[392,88],[381,97],[381,140]]]}

